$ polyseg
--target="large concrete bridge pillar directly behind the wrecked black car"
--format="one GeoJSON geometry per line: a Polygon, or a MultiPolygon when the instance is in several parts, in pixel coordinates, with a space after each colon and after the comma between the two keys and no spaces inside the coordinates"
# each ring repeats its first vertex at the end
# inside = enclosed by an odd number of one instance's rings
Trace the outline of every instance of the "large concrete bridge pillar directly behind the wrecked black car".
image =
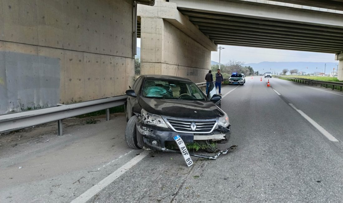
{"type": "Polygon", "coordinates": [[[138,5],[137,15],[141,16],[141,73],[203,82],[217,45],[182,15],[175,3],[138,5]]]}

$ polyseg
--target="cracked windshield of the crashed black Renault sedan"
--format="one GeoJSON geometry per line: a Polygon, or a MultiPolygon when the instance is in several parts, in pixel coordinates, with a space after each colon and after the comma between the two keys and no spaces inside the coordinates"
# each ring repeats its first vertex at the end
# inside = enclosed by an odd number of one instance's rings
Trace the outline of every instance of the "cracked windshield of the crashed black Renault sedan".
{"type": "Polygon", "coordinates": [[[199,87],[187,81],[146,80],[143,97],[157,99],[205,100],[199,87]]]}

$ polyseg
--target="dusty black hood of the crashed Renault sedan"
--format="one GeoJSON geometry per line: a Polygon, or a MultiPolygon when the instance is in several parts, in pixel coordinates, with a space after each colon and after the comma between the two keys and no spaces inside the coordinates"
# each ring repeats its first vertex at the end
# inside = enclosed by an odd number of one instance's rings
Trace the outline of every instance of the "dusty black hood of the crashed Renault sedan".
{"type": "Polygon", "coordinates": [[[152,114],[185,119],[210,119],[224,116],[212,101],[140,98],[142,108],[152,114]]]}

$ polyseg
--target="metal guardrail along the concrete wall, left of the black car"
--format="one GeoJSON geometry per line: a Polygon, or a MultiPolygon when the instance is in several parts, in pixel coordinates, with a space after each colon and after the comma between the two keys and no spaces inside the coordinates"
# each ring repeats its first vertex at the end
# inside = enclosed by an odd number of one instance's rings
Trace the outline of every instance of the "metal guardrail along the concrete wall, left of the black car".
{"type": "Polygon", "coordinates": [[[109,121],[109,108],[124,105],[126,99],[127,95],[121,95],[118,97],[108,97],[68,105],[58,104],[59,106],[43,109],[3,114],[0,115],[0,133],[57,121],[58,135],[62,135],[63,119],[106,109],[106,120],[109,121]]]}

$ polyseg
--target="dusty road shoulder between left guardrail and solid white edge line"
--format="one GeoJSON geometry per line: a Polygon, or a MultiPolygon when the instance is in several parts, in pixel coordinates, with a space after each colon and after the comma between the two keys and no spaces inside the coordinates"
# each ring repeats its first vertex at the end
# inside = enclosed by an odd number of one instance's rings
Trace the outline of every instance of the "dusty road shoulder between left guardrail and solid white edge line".
{"type": "Polygon", "coordinates": [[[63,120],[0,136],[0,202],[70,202],[141,150],[126,146],[125,113],[63,120]]]}

